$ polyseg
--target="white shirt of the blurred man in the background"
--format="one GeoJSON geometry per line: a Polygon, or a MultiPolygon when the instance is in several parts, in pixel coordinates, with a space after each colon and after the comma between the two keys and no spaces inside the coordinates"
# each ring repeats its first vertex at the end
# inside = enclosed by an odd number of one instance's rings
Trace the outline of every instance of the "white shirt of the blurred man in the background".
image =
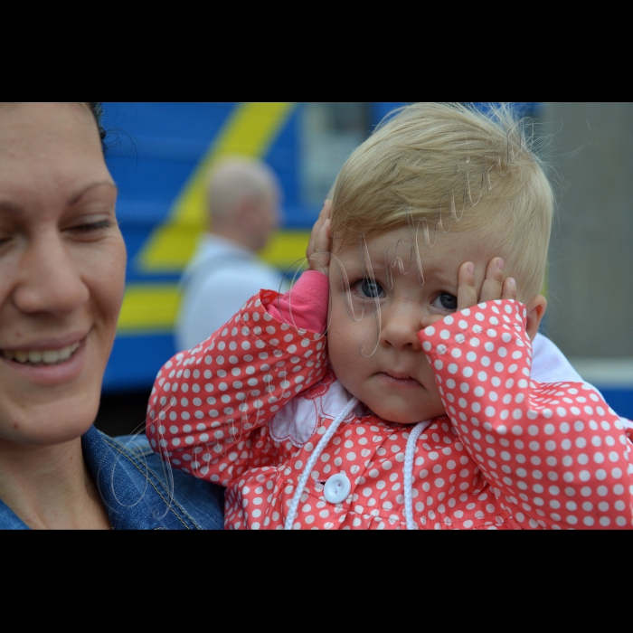
{"type": "Polygon", "coordinates": [[[181,280],[178,350],[191,349],[226,323],[254,294],[279,290],[281,275],[235,241],[205,233],[181,280]]]}

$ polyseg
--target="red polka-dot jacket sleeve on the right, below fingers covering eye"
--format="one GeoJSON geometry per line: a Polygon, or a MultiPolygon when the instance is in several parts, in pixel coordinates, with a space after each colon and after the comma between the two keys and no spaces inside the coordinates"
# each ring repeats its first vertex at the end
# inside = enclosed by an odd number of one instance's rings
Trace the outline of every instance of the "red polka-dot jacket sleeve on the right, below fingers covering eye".
{"type": "Polygon", "coordinates": [[[630,528],[631,442],[586,383],[537,383],[526,310],[496,300],[418,337],[453,427],[518,526],[630,528]]]}

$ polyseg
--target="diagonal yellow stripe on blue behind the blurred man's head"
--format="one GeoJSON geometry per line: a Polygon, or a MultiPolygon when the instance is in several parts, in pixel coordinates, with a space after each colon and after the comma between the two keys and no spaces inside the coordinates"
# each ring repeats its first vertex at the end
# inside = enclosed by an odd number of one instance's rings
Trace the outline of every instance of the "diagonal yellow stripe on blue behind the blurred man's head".
{"type": "Polygon", "coordinates": [[[156,228],[138,255],[144,272],[180,272],[194,254],[205,226],[204,190],[213,163],[226,156],[264,156],[288,121],[294,103],[242,103],[213,139],[175,199],[169,220],[156,228]]]}

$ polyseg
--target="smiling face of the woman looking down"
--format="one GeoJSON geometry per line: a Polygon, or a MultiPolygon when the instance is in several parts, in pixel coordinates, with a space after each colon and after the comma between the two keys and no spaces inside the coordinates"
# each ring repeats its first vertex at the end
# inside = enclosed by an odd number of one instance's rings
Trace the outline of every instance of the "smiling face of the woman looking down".
{"type": "Polygon", "coordinates": [[[125,283],[116,200],[86,104],[0,105],[0,449],[97,414],[125,283]]]}

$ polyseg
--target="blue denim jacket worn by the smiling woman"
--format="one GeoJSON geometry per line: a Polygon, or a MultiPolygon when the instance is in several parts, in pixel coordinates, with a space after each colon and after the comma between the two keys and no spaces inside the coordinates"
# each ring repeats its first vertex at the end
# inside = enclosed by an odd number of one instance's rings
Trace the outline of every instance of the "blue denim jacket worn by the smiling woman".
{"type": "MultiPolygon", "coordinates": [[[[90,427],[81,448],[115,530],[222,530],[223,488],[165,470],[145,435],[109,438],[90,427]]],[[[2,499],[0,529],[29,529],[2,499]]]]}

